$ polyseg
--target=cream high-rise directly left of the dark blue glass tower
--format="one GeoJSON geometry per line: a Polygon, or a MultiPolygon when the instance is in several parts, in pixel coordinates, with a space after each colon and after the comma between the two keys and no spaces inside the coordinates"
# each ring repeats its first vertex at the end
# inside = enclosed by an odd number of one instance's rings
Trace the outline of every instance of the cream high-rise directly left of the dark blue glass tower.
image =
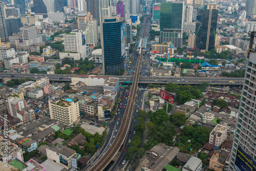
{"type": "Polygon", "coordinates": [[[98,22],[96,19],[92,19],[88,22],[84,35],[86,36],[86,46],[99,46],[98,41],[98,22]]]}

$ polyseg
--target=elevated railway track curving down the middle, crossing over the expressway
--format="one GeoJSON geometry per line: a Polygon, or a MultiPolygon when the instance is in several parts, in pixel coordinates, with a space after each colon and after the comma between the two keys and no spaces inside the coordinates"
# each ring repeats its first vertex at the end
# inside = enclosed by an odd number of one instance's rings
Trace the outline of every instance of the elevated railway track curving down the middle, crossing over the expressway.
{"type": "MultiPolygon", "coordinates": [[[[142,36],[143,38],[145,37],[145,34],[146,34],[147,17],[144,20],[145,20],[145,25],[144,25],[143,36],[142,36]]],[[[105,152],[104,156],[100,158],[97,161],[97,163],[95,163],[91,168],[89,168],[88,169],[89,171],[101,171],[106,166],[108,166],[108,164],[113,160],[113,158],[121,148],[124,140],[126,139],[127,133],[130,129],[131,120],[132,120],[134,102],[136,100],[142,56],[143,56],[143,50],[140,49],[140,55],[138,56],[130,98],[127,101],[126,110],[123,116],[123,121],[116,135],[116,138],[113,141],[110,148],[108,149],[108,151],[105,152]]]]}

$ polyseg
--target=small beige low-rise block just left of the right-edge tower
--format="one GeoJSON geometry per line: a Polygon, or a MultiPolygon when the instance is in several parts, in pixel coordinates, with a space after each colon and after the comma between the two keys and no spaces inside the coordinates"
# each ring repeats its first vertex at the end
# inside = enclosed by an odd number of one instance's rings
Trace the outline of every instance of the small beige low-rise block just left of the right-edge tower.
{"type": "Polygon", "coordinates": [[[219,147],[225,141],[226,138],[227,126],[218,124],[210,133],[209,143],[219,147]]]}

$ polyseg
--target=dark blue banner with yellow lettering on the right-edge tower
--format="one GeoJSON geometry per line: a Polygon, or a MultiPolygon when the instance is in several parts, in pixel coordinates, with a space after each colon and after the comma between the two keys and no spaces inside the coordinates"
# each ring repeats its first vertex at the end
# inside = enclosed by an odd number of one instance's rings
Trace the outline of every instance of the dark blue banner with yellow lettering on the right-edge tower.
{"type": "Polygon", "coordinates": [[[256,162],[243,149],[238,146],[236,161],[234,168],[238,171],[252,171],[256,170],[256,162]]]}

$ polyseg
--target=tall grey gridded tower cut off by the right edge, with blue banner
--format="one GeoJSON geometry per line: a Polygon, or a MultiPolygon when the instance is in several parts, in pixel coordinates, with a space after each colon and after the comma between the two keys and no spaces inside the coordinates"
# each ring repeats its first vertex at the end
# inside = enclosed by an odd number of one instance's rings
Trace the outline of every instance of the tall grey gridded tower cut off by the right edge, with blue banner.
{"type": "MultiPolygon", "coordinates": [[[[255,32],[251,33],[249,49],[255,49],[255,32]]],[[[244,86],[241,94],[236,132],[230,155],[229,170],[255,170],[255,94],[256,94],[256,53],[248,52],[244,86]],[[239,157],[240,156],[240,157],[239,157]],[[244,162],[242,161],[244,160],[244,162]],[[253,167],[254,165],[254,167],[253,167]],[[250,167],[249,167],[250,166],[250,167]]]]}

